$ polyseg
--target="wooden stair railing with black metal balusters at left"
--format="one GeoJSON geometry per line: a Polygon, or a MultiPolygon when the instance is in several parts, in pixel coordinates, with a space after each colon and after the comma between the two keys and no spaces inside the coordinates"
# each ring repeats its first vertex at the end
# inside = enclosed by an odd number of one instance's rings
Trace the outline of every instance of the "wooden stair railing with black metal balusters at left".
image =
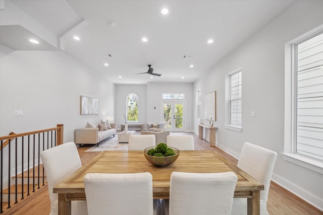
{"type": "MultiPolygon", "coordinates": [[[[10,132],[7,136],[0,136],[1,148],[0,148],[0,213],[3,213],[4,203],[4,184],[8,182],[8,207],[11,207],[11,174],[15,172],[15,203],[18,203],[18,186],[17,176],[18,168],[21,169],[22,173],[22,186],[21,186],[21,199],[24,199],[24,170],[27,171],[27,195],[30,195],[30,169],[33,169],[32,173],[32,192],[35,192],[35,180],[37,180],[38,187],[40,188],[40,153],[46,149],[56,147],[63,144],[64,139],[64,125],[57,124],[57,127],[47,128],[43,130],[30,131],[25,133],[14,133],[10,132]],[[26,145],[26,144],[27,145],[26,145]],[[14,144],[14,153],[12,153],[12,145],[14,144]],[[42,146],[41,146],[42,145],[42,146]],[[8,146],[8,148],[5,148],[8,146]],[[26,149],[25,149],[26,148],[26,149]],[[8,150],[7,150],[8,149],[8,150]],[[27,151],[24,153],[24,149],[27,151]],[[4,152],[5,151],[5,152],[4,152]],[[8,153],[4,155],[4,153],[8,153]],[[12,161],[12,154],[14,154],[14,162],[12,161]],[[19,154],[19,156],[18,156],[19,154]],[[24,157],[25,156],[25,157],[24,157]],[[37,156],[37,157],[36,157],[37,156]],[[27,157],[27,158],[26,158],[27,157]],[[7,160],[8,158],[8,160],[7,160]],[[32,165],[30,162],[32,159],[32,165]],[[37,159],[37,160],[36,160],[37,159]],[[5,163],[4,163],[4,160],[5,163]],[[20,160],[20,161],[18,161],[20,160]],[[8,161],[8,164],[7,164],[8,161]],[[36,164],[38,162],[38,164],[36,164]],[[12,170],[12,163],[15,168],[12,170]],[[20,163],[21,166],[18,166],[20,163]],[[38,165],[38,176],[35,177],[35,167],[38,165]],[[4,170],[6,168],[6,170],[4,170]],[[7,169],[8,168],[8,169],[7,169]],[[8,171],[8,176],[4,176],[4,171],[8,171]]],[[[44,169],[42,168],[42,185],[44,184],[44,169]]]]}

